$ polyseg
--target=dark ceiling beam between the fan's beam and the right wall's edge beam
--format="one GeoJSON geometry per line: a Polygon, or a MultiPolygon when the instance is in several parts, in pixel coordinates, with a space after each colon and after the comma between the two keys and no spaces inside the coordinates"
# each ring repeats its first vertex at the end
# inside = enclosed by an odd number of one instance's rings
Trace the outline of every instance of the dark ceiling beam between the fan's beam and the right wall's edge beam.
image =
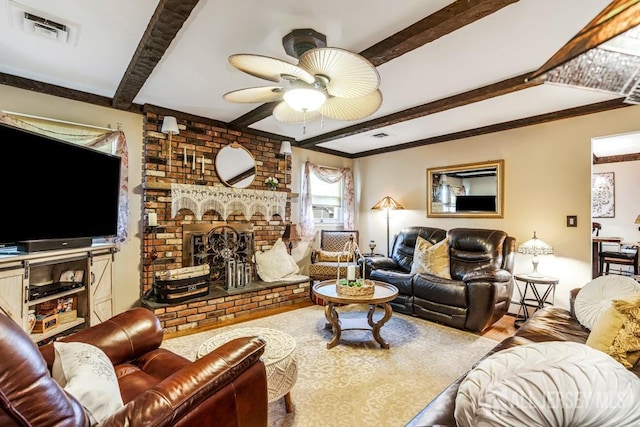
{"type": "Polygon", "coordinates": [[[385,126],[391,126],[407,120],[424,117],[429,114],[441,113],[452,108],[462,107],[474,102],[484,101],[496,96],[506,95],[543,84],[543,81],[539,79],[527,81],[527,77],[529,76],[529,74],[530,73],[522,74],[498,83],[493,83],[487,86],[453,95],[448,98],[438,99],[427,104],[419,105],[417,107],[409,108],[397,113],[358,123],[357,125],[348,126],[346,128],[335,130],[333,132],[327,132],[323,135],[305,139],[304,141],[301,141],[299,144],[297,144],[297,146],[302,148],[309,148],[318,144],[322,144],[324,142],[345,138],[347,136],[356,135],[362,132],[368,132],[385,126]]]}

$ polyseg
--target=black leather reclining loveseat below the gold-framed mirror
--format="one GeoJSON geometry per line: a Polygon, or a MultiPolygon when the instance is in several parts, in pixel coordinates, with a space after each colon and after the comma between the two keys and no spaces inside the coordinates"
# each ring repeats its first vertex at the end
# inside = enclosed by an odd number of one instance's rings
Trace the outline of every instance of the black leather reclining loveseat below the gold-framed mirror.
{"type": "Polygon", "coordinates": [[[478,332],[507,313],[514,256],[515,238],[504,231],[414,226],[394,236],[389,257],[366,258],[365,274],[398,288],[394,311],[478,332]],[[449,238],[450,280],[410,273],[418,236],[431,243],[449,238]]]}

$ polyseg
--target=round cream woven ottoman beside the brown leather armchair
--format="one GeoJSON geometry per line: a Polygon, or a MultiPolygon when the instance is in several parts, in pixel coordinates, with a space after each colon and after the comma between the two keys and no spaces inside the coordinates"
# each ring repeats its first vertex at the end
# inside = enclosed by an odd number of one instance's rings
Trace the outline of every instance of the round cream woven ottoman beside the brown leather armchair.
{"type": "Polygon", "coordinates": [[[267,343],[262,361],[267,370],[269,402],[275,402],[284,397],[286,410],[291,412],[293,410],[291,388],[298,378],[296,341],[291,335],[270,328],[234,328],[221,332],[202,343],[196,357],[201,358],[235,338],[251,336],[259,336],[267,343]]]}

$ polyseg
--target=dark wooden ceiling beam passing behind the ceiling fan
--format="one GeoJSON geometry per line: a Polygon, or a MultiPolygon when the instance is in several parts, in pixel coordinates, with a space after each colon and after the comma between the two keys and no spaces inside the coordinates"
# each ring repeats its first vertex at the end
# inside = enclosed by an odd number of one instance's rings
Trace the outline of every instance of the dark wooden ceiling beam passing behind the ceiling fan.
{"type": "MultiPolygon", "coordinates": [[[[457,0],[360,52],[378,67],[407,52],[472,24],[519,0],[457,0]]],[[[269,103],[249,111],[234,120],[237,126],[249,126],[273,114],[277,103],[269,103]],[[237,123],[236,123],[237,122],[237,123]]]]}

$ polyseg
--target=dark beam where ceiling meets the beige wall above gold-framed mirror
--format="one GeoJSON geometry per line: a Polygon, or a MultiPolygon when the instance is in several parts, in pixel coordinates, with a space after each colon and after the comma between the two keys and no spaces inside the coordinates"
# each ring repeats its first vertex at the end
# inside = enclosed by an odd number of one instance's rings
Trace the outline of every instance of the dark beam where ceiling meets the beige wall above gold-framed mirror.
{"type": "MultiPolygon", "coordinates": [[[[460,132],[454,132],[447,135],[434,136],[432,138],[420,139],[404,144],[394,145],[391,147],[377,148],[375,150],[361,151],[356,153],[350,158],[359,158],[366,156],[373,156],[375,154],[390,153],[392,151],[406,150],[408,148],[421,147],[423,145],[438,144],[441,142],[455,141],[462,138],[470,138],[472,136],[485,135],[488,133],[502,132],[509,129],[516,129],[525,126],[537,125],[542,123],[548,123],[556,120],[569,119],[572,117],[583,116],[586,114],[600,113],[602,111],[609,111],[616,108],[631,107],[631,104],[625,104],[624,98],[616,98],[609,101],[598,102],[595,104],[582,105],[580,107],[568,108],[565,110],[554,111],[551,113],[540,114],[537,116],[526,117],[518,120],[511,120],[508,122],[497,123],[489,126],[482,126],[475,129],[464,130],[460,132]]],[[[312,150],[314,150],[312,148],[312,150]]]]}

